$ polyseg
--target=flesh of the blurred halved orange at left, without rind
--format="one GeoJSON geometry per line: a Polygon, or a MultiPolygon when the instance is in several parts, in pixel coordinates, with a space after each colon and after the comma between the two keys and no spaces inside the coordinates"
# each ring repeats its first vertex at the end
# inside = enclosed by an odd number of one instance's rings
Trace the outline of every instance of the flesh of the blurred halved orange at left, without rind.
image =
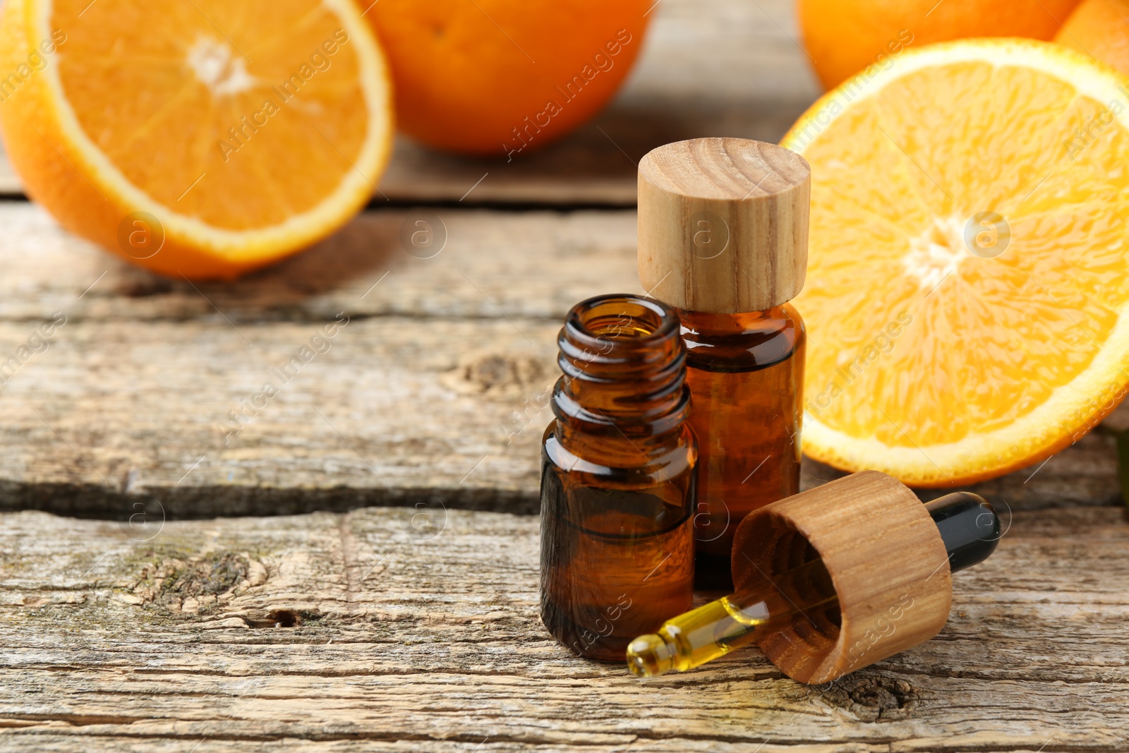
{"type": "Polygon", "coordinates": [[[230,230],[277,225],[353,169],[368,125],[358,56],[324,6],[58,0],[50,26],[67,32],[59,76],[84,132],[178,213],[230,230]]]}

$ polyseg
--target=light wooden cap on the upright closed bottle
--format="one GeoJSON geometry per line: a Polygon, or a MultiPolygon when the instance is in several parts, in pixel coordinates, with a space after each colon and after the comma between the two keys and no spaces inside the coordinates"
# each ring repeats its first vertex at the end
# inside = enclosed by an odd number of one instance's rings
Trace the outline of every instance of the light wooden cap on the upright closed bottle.
{"type": "Polygon", "coordinates": [[[692,139],[639,163],[639,279],[676,308],[759,312],[795,298],[807,269],[811,168],[749,139],[692,139]]]}

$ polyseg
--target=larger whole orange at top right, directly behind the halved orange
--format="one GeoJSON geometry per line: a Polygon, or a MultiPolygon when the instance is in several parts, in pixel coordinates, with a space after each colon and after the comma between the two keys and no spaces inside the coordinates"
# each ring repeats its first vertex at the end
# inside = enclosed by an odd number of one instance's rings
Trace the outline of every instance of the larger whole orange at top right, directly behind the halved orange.
{"type": "Polygon", "coordinates": [[[970,36],[1050,40],[1079,0],[798,0],[816,76],[839,86],[909,46],[970,36]]]}

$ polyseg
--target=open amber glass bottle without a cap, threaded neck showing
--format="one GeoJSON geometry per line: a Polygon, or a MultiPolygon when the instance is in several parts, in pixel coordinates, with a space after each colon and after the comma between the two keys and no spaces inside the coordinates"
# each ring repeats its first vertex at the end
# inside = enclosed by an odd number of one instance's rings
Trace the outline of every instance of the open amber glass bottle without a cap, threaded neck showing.
{"type": "Polygon", "coordinates": [[[541,463],[541,620],[581,656],[628,643],[691,605],[698,456],[677,315],[599,296],[558,336],[563,376],[541,463]]]}

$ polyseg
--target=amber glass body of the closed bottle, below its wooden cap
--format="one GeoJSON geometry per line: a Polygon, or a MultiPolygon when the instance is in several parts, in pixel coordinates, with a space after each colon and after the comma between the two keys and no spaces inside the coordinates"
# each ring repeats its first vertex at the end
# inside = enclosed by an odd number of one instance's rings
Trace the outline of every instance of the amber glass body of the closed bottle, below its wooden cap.
{"type": "Polygon", "coordinates": [[[725,589],[737,524],[799,491],[804,321],[789,304],[679,316],[699,437],[697,586],[725,589]]]}

